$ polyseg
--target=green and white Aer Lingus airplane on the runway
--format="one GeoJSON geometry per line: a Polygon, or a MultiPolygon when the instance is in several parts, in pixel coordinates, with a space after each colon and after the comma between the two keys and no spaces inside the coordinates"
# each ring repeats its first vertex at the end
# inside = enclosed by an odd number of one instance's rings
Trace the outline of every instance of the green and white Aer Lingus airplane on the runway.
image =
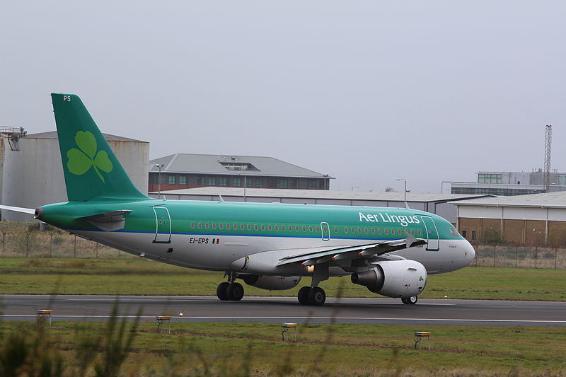
{"type": "Polygon", "coordinates": [[[409,208],[147,197],[135,187],[79,96],[52,93],[69,202],[0,206],[133,255],[225,272],[222,301],[291,289],[302,305],[326,300],[318,284],[350,275],[382,296],[417,303],[429,274],[466,267],[475,250],[449,221],[409,208]]]}

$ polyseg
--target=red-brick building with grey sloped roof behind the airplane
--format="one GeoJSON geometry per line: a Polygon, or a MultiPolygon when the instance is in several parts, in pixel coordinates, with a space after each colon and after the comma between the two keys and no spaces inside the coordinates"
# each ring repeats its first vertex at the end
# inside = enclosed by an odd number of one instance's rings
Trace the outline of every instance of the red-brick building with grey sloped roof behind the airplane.
{"type": "Polygon", "coordinates": [[[272,157],[175,153],[149,161],[150,192],[205,186],[330,190],[331,179],[272,157]]]}

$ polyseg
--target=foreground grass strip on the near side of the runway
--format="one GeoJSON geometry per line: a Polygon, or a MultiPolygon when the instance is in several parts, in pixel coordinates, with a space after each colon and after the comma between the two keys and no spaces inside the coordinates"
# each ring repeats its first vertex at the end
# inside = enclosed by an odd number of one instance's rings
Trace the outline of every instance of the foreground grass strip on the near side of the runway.
{"type": "MultiPolygon", "coordinates": [[[[131,325],[122,335],[130,333],[131,325]]],[[[65,375],[78,375],[74,368],[81,360],[78,352],[88,343],[85,335],[107,334],[105,327],[54,323],[41,334],[42,349],[49,349],[50,357],[62,357],[65,375]]],[[[154,323],[141,323],[122,375],[563,376],[566,371],[565,327],[303,325],[296,343],[283,343],[277,324],[172,327],[171,334],[157,334],[154,323]],[[415,330],[432,332],[430,352],[414,348],[415,330]]],[[[4,339],[13,332],[27,334],[32,342],[35,328],[34,323],[0,323],[0,334],[4,339]]],[[[118,335],[114,333],[114,342],[118,335]]],[[[91,357],[107,351],[104,344],[99,346],[91,357]]],[[[2,352],[0,347],[0,364],[2,352]]]]}

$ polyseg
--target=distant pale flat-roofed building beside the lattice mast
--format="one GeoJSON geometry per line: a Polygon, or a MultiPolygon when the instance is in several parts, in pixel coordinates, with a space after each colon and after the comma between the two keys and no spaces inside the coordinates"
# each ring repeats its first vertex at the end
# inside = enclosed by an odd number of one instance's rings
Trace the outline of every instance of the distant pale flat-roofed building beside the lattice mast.
{"type": "MultiPolygon", "coordinates": [[[[546,192],[545,172],[480,171],[477,182],[446,182],[451,184],[452,194],[472,195],[528,195],[546,192]]],[[[566,191],[566,173],[548,173],[548,192],[566,191]]]]}

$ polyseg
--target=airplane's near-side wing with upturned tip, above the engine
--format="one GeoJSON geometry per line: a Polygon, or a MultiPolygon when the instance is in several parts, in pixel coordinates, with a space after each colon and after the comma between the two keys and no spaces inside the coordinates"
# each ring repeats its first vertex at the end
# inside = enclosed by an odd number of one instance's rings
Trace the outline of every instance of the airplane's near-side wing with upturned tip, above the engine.
{"type": "Polygon", "coordinates": [[[323,251],[313,249],[311,252],[283,257],[279,260],[277,266],[290,265],[291,263],[300,263],[302,266],[312,266],[335,260],[376,257],[386,253],[393,253],[398,250],[410,248],[412,246],[427,244],[426,240],[422,238],[415,238],[407,231],[405,231],[405,237],[406,238],[398,240],[383,240],[376,243],[332,248],[330,250],[323,251]]]}

